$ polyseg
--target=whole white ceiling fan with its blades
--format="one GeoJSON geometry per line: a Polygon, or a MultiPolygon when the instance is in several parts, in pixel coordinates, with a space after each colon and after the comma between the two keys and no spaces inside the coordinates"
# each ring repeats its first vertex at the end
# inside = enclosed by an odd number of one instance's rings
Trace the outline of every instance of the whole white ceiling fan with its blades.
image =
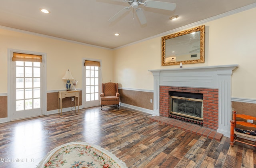
{"type": "Polygon", "coordinates": [[[143,0],[123,0],[123,2],[128,2],[130,6],[120,10],[117,14],[115,14],[112,18],[110,18],[108,22],[114,22],[121,15],[129,11],[130,8],[133,8],[135,9],[136,14],[140,20],[140,24],[146,24],[147,20],[144,15],[144,12],[141,8],[138,8],[140,5],[144,5],[149,8],[157,8],[157,9],[164,9],[164,10],[174,10],[176,8],[175,3],[161,2],[161,1],[154,1],[154,0],[146,0],[145,2],[143,2],[143,0]]]}

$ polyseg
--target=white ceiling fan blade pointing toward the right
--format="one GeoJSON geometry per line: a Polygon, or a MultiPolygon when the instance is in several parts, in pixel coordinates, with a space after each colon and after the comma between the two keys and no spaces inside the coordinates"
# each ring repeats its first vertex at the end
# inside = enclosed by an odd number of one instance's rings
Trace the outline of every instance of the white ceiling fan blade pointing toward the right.
{"type": "Polygon", "coordinates": [[[176,8],[175,3],[160,2],[160,1],[154,1],[154,0],[146,0],[144,2],[144,6],[149,8],[158,8],[158,9],[165,9],[165,10],[174,10],[176,8]]]}

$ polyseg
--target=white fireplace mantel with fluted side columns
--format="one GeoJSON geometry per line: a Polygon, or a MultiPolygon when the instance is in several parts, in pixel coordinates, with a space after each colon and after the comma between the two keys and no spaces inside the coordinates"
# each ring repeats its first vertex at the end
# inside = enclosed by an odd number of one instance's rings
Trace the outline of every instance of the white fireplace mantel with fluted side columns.
{"type": "Polygon", "coordinates": [[[159,86],[218,88],[218,130],[230,137],[231,76],[238,64],[148,70],[154,76],[154,116],[159,116],[159,86]]]}

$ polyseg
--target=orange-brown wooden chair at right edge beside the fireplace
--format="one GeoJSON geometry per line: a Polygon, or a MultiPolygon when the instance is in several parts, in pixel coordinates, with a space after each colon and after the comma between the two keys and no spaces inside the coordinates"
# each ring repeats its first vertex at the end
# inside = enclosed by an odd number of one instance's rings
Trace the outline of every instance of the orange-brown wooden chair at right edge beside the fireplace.
{"type": "Polygon", "coordinates": [[[252,134],[256,134],[256,131],[250,131],[251,129],[256,130],[256,124],[247,122],[247,120],[256,120],[256,117],[245,115],[245,114],[236,114],[236,111],[233,111],[233,118],[231,122],[230,128],[230,145],[234,146],[235,142],[240,142],[243,144],[248,144],[256,147],[256,136],[252,134]],[[240,118],[239,121],[237,118],[240,118]],[[245,120],[245,121],[242,121],[245,120]],[[240,125],[240,128],[236,126],[240,125]],[[244,129],[246,128],[246,129],[244,129]],[[240,131],[240,132],[238,132],[240,131]],[[250,143],[249,143],[250,142],[250,143]]]}

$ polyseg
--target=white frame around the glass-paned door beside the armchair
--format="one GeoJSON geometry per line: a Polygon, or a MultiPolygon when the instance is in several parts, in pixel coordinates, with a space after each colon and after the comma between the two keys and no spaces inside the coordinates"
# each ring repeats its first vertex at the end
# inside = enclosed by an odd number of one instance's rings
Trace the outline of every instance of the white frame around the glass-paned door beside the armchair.
{"type": "Polygon", "coordinates": [[[86,92],[86,68],[84,66],[84,62],[88,60],[88,61],[97,61],[100,62],[100,67],[99,67],[99,106],[100,106],[100,93],[102,90],[102,61],[101,60],[97,60],[97,59],[92,59],[92,58],[83,58],[82,59],[82,108],[88,108],[90,106],[86,106],[86,98],[85,98],[85,92],[86,92]]]}

